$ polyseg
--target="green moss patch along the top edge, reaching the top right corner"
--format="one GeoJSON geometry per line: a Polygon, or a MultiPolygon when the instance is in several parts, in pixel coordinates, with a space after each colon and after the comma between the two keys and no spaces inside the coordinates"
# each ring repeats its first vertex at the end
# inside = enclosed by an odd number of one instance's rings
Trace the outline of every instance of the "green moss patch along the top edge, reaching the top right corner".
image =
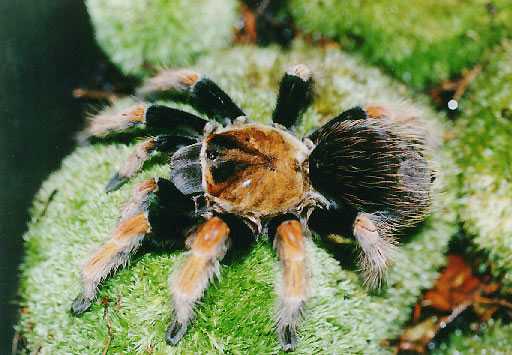
{"type": "Polygon", "coordinates": [[[512,30],[509,0],[291,0],[297,26],[423,89],[477,64],[512,30]]]}

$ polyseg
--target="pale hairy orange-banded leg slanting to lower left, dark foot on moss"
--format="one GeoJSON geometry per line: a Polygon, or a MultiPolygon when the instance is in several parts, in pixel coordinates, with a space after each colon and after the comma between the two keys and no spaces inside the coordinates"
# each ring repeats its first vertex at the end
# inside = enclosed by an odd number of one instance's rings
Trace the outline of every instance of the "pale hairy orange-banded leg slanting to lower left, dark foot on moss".
{"type": "Polygon", "coordinates": [[[149,194],[156,190],[155,179],[145,180],[135,187],[132,199],[123,209],[111,238],[89,258],[82,269],[83,291],[71,306],[74,314],[81,314],[89,308],[100,282],[125,265],[130,255],[139,248],[144,236],[151,231],[146,206],[149,194]]]}

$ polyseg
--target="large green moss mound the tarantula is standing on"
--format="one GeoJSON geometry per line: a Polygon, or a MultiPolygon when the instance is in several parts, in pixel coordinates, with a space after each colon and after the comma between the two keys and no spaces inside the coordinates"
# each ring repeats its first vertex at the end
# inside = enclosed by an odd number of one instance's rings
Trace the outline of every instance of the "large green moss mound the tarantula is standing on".
{"type": "MultiPolygon", "coordinates": [[[[197,67],[217,80],[254,119],[268,122],[278,81],[291,63],[307,63],[317,78],[315,106],[305,114],[302,130],[367,101],[396,102],[407,97],[402,86],[368,69],[338,50],[305,49],[300,44],[283,54],[275,49],[239,47],[202,59],[197,67]]],[[[432,136],[442,130],[440,118],[422,104],[432,136]]],[[[127,146],[81,147],[42,186],[25,235],[22,314],[19,329],[28,350],[44,353],[100,353],[111,324],[111,353],[277,353],[273,329],[273,282],[276,257],[265,236],[248,255],[231,258],[222,279],[211,286],[197,308],[197,319],[177,348],[164,342],[170,321],[167,275],[183,255],[179,251],[149,253],[104,283],[99,299],[110,300],[107,316],[97,301],[81,318],[69,306],[79,291],[79,266],[114,227],[118,211],[134,184],[149,176],[166,176],[155,164],[119,191],[103,192],[127,146]],[[53,191],[46,213],[45,204],[53,191]]],[[[454,191],[450,158],[440,183],[454,191]]],[[[369,294],[358,273],[344,270],[315,242],[312,254],[313,295],[300,328],[297,353],[380,353],[380,342],[397,336],[423,288],[443,265],[455,231],[453,196],[439,194],[433,216],[403,244],[389,287],[369,294]]],[[[172,236],[169,236],[172,237],[172,236]]],[[[321,244],[321,243],[320,243],[321,244]]]]}

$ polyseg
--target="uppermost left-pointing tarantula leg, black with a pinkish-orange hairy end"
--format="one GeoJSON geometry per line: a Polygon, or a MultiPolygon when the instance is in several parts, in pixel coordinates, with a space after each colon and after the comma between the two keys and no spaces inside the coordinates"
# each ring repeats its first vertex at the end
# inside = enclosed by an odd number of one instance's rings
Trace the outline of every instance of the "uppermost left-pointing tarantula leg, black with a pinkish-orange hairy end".
{"type": "Polygon", "coordinates": [[[163,70],[138,89],[148,99],[170,96],[188,102],[199,112],[219,122],[245,113],[213,80],[189,69],[163,70]]]}

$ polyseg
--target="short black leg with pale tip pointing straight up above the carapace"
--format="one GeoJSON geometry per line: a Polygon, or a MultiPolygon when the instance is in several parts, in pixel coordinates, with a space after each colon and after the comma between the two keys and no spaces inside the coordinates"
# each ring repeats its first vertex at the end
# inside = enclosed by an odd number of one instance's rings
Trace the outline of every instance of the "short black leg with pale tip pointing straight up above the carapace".
{"type": "Polygon", "coordinates": [[[312,100],[311,70],[304,64],[291,67],[281,79],[272,121],[290,128],[297,123],[312,100]]]}

